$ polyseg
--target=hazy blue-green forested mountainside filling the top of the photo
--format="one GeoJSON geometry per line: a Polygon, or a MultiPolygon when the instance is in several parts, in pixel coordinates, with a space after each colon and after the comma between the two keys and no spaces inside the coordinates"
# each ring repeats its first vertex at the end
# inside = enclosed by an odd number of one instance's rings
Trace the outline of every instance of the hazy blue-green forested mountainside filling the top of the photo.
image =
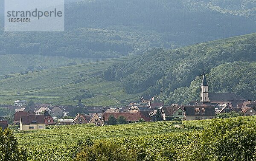
{"type": "Polygon", "coordinates": [[[152,47],[253,33],[255,15],[255,0],[67,0],[65,32],[4,33],[2,28],[0,54],[142,54],[152,47]]]}

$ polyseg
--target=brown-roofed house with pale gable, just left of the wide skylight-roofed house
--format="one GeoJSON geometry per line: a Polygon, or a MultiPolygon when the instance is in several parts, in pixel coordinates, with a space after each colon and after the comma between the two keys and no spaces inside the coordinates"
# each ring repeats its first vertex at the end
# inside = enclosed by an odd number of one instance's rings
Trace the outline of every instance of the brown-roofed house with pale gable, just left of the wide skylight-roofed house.
{"type": "Polygon", "coordinates": [[[163,120],[168,120],[170,117],[184,117],[184,107],[182,106],[162,106],[160,107],[160,113],[163,116],[163,120]]]}

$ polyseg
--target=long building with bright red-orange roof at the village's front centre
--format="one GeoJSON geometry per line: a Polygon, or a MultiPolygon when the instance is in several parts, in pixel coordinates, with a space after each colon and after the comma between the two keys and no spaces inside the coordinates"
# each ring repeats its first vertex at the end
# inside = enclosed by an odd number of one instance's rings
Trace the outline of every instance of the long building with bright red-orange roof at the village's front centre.
{"type": "Polygon", "coordinates": [[[144,119],[144,121],[151,121],[148,112],[138,111],[137,113],[129,113],[129,112],[119,112],[119,113],[103,113],[103,122],[102,124],[106,124],[108,122],[109,116],[114,116],[118,119],[119,116],[124,116],[127,123],[137,122],[140,119],[144,119]]]}

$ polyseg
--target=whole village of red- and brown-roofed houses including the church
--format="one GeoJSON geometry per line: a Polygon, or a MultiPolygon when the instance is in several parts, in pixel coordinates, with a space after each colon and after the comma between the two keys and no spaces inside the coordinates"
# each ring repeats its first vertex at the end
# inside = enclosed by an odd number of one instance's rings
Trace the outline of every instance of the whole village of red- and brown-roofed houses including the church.
{"type": "Polygon", "coordinates": [[[77,106],[54,106],[17,100],[13,105],[0,105],[15,111],[13,122],[0,117],[0,127],[17,126],[20,131],[46,129],[50,125],[94,124],[104,126],[142,121],[178,121],[214,119],[218,113],[239,113],[240,116],[256,116],[256,101],[245,100],[235,93],[209,93],[206,76],[201,82],[200,101],[187,105],[164,105],[155,102],[154,96],[144,95],[140,101],[123,107],[85,106],[79,100],[77,106]]]}

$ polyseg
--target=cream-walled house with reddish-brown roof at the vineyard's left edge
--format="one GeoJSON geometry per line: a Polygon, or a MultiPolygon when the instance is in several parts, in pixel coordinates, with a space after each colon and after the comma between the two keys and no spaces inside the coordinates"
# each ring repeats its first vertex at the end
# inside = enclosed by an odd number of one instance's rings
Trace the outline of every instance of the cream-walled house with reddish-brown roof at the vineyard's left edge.
{"type": "Polygon", "coordinates": [[[20,116],[20,130],[41,130],[45,129],[44,115],[29,114],[20,116]]]}

